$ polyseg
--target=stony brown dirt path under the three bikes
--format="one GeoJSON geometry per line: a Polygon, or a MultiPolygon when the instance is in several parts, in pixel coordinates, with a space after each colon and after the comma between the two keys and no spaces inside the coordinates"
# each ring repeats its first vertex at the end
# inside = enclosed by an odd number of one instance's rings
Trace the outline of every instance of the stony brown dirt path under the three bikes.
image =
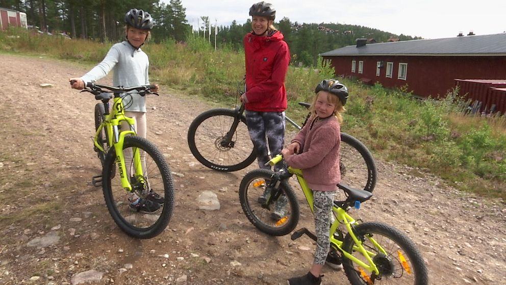
{"type": "MultiPolygon", "coordinates": [[[[100,172],[91,144],[95,100],[66,82],[87,68],[44,57],[0,54],[0,61],[2,87],[12,89],[0,91],[0,283],[71,284],[95,270],[102,278],[94,284],[285,284],[307,272],[308,238],[266,236],[244,216],[237,189],[252,167],[218,173],[191,155],[188,126],[209,105],[165,87],[148,99],[148,138],[175,173],[176,206],[161,235],[134,240],[90,183],[100,172]],[[205,190],[218,195],[220,210],[198,210],[205,190]],[[33,246],[41,238],[57,242],[33,246]]],[[[421,170],[376,163],[375,197],[354,216],[406,232],[431,284],[506,283],[503,203],[458,193],[421,170]]],[[[311,227],[307,206],[301,209],[301,225],[311,227]]],[[[324,284],[348,281],[326,268],[324,284]]]]}

